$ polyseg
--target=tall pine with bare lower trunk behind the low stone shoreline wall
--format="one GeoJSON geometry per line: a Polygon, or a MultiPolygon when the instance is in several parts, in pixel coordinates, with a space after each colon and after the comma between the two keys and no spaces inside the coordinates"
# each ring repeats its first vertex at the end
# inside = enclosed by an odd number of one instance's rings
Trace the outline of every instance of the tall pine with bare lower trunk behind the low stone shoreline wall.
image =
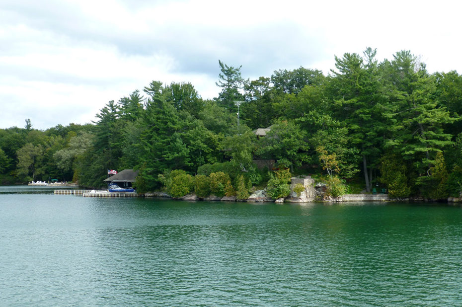
{"type": "Polygon", "coordinates": [[[335,116],[349,130],[351,143],[361,153],[366,189],[371,190],[372,170],[377,165],[373,161],[380,156],[383,147],[383,134],[389,121],[382,116],[386,111],[385,97],[379,82],[379,66],[375,60],[377,51],[367,48],[364,57],[345,53],[342,58],[335,57],[332,71],[335,79],[335,116]]]}

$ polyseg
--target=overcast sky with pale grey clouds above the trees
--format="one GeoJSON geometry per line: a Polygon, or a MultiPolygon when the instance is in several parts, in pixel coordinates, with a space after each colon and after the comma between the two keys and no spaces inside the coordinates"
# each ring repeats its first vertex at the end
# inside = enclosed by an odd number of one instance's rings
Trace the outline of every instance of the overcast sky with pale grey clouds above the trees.
{"type": "Polygon", "coordinates": [[[1,0],[0,128],[84,124],[152,80],[218,95],[218,60],[242,77],[400,50],[462,73],[459,1],[1,0]],[[223,4],[222,4],[223,3],[223,4]],[[225,4],[226,3],[226,4],[225,4]],[[374,4],[380,3],[380,4],[374,4]]]}

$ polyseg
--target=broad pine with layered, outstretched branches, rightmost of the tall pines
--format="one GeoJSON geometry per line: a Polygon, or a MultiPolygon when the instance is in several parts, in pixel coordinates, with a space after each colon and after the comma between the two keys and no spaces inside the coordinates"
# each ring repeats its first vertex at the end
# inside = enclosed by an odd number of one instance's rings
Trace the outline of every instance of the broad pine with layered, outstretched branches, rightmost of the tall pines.
{"type": "Polygon", "coordinates": [[[396,53],[391,62],[393,80],[389,99],[396,107],[393,138],[387,146],[399,149],[403,158],[412,161],[421,174],[429,172],[435,153],[453,144],[443,126],[453,123],[445,107],[435,99],[435,77],[409,51],[396,53]]]}

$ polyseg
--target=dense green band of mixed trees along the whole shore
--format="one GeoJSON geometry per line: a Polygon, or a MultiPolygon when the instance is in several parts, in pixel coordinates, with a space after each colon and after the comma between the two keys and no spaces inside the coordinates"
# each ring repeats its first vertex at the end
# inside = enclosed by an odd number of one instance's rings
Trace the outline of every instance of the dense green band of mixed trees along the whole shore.
{"type": "Polygon", "coordinates": [[[368,191],[380,184],[397,197],[459,195],[456,71],[429,74],[409,51],[379,63],[371,48],[335,57],[328,76],[300,67],[249,80],[241,67],[219,66],[221,92],[212,100],[190,83],[153,81],[109,101],[93,124],[40,131],[26,120],[25,128],[0,129],[1,183],[51,178],[101,187],[107,169],[134,168],[137,189],[149,191],[173,169],[195,175],[222,165],[231,179],[252,176],[258,158],[293,173],[362,178],[368,191]],[[265,137],[252,133],[269,126],[265,137]]]}

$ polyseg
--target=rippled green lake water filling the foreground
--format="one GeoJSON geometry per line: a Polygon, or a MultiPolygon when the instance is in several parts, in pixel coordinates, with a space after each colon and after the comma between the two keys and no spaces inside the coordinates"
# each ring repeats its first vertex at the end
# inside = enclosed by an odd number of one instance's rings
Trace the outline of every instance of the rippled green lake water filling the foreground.
{"type": "Polygon", "coordinates": [[[1,306],[462,305],[460,206],[49,193],[0,187],[1,306]]]}

